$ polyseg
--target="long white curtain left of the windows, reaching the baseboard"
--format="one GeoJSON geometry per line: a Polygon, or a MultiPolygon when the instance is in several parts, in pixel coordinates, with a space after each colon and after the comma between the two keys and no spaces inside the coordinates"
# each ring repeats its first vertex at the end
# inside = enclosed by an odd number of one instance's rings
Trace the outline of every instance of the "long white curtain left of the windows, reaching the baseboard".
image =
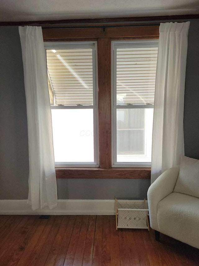
{"type": "Polygon", "coordinates": [[[28,120],[29,195],[32,210],[57,206],[53,133],[41,27],[19,27],[28,120]]]}

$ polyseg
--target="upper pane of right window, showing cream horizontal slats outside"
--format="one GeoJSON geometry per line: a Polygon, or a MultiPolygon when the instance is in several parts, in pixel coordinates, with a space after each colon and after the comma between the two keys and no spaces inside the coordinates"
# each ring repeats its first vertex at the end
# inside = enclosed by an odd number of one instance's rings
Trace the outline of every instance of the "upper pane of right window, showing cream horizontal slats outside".
{"type": "Polygon", "coordinates": [[[158,47],[117,48],[117,104],[153,104],[158,47]]]}

